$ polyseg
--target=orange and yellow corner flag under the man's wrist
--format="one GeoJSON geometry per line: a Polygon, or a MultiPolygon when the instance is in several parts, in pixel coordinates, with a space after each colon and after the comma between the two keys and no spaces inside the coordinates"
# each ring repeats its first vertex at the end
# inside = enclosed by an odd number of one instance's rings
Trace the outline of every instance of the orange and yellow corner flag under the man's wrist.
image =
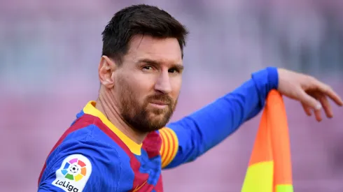
{"type": "Polygon", "coordinates": [[[293,192],[286,110],[276,90],[267,96],[241,192],[293,192]]]}

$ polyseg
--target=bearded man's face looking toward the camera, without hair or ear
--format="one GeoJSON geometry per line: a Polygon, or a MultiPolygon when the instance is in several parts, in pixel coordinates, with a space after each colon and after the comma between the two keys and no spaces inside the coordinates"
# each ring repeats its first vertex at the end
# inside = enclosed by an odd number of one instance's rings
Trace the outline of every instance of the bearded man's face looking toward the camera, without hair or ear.
{"type": "Polygon", "coordinates": [[[134,36],[114,72],[113,96],[123,119],[142,133],[167,124],[176,108],[183,71],[176,38],[134,36]]]}

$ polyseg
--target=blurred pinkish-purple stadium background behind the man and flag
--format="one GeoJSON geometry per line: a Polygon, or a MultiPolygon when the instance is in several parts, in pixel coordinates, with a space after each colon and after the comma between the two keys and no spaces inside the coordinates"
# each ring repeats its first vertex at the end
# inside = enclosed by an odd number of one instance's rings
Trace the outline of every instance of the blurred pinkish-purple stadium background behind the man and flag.
{"type": "MultiPolygon", "coordinates": [[[[50,149],[97,98],[101,32],[132,3],[164,8],[190,29],[174,119],[266,66],[309,73],[343,96],[343,1],[2,0],[0,191],[36,191],[50,149]]],[[[316,123],[286,100],[295,191],[343,191],[343,110],[316,123]]],[[[164,172],[165,191],[241,189],[259,117],[194,163],[164,172]]],[[[213,128],[216,131],[216,128],[213,128]]]]}

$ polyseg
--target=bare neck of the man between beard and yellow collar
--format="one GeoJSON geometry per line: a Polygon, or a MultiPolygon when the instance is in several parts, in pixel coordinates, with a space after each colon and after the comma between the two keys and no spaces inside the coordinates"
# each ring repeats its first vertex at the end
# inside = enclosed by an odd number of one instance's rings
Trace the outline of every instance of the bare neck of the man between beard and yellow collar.
{"type": "Polygon", "coordinates": [[[95,108],[102,112],[116,128],[137,144],[141,144],[144,138],[146,138],[146,135],[148,135],[147,133],[134,131],[134,129],[124,121],[123,117],[120,115],[116,102],[111,99],[109,93],[99,94],[95,108]]]}

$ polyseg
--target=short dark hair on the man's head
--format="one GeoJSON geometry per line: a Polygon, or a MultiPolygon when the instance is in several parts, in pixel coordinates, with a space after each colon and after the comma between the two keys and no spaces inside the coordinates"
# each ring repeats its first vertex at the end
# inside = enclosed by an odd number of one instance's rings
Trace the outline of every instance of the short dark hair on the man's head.
{"type": "Polygon", "coordinates": [[[139,4],[119,10],[102,32],[102,55],[121,62],[133,36],[176,38],[183,55],[188,30],[183,24],[156,6],[139,4]]]}

